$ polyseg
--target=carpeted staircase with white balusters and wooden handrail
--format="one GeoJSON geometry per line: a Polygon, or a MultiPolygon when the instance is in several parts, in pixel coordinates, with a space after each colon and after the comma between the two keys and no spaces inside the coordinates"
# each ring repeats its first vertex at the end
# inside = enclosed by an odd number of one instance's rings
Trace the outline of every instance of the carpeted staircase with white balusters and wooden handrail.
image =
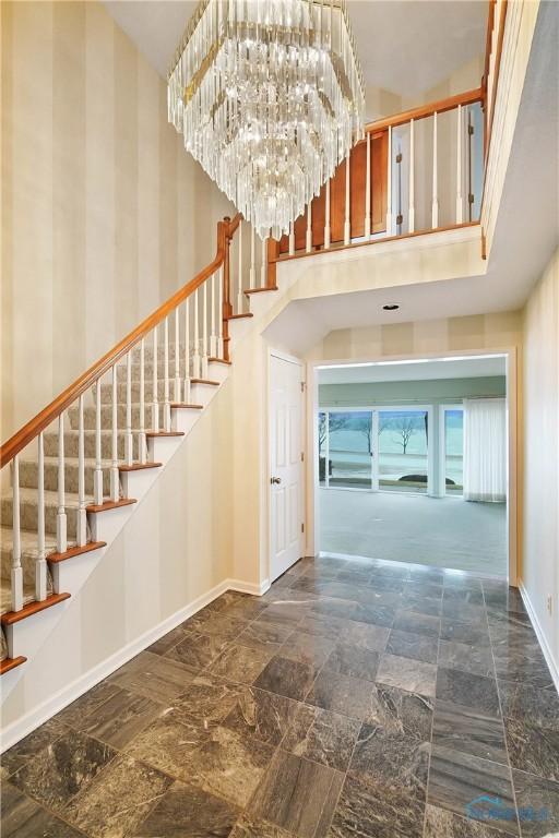
{"type": "Polygon", "coordinates": [[[241,231],[240,216],[219,222],[211,265],[2,445],[4,692],[226,380],[250,295],[275,290],[253,287],[241,231]]]}

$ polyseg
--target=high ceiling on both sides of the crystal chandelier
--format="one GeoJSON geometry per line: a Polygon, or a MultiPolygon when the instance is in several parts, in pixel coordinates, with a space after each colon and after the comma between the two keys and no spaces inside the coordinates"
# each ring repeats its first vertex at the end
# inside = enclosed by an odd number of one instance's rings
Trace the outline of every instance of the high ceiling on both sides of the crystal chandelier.
{"type": "MultiPolygon", "coordinates": [[[[105,0],[109,13],[162,76],[193,0],[105,0]]],[[[485,49],[483,0],[350,0],[367,85],[417,96],[485,49]]]]}

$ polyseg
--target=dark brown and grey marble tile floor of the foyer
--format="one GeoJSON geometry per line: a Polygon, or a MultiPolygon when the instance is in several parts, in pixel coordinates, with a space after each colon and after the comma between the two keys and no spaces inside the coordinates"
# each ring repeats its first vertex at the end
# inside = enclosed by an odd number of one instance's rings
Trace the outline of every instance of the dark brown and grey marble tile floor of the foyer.
{"type": "Polygon", "coordinates": [[[543,838],[559,697],[516,590],[302,559],[2,756],[2,838],[543,838]]]}

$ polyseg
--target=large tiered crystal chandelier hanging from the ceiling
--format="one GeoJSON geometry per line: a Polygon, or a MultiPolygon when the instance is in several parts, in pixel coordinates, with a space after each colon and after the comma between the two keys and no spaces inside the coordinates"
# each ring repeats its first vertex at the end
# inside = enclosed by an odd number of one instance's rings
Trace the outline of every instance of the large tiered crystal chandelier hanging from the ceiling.
{"type": "Polygon", "coordinates": [[[168,77],[169,122],[262,238],[333,176],[364,105],[341,0],[202,0],[168,77]]]}

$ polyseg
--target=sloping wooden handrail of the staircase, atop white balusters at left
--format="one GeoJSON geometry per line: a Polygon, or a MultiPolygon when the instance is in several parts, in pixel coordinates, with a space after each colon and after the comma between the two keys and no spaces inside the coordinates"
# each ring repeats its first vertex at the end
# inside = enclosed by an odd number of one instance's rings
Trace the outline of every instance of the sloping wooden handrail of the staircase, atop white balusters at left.
{"type": "Polygon", "coordinates": [[[23,426],[11,439],[0,447],[0,468],[19,454],[29,442],[38,436],[48,426],[57,419],[60,414],[69,408],[83,393],[85,393],[95,382],[110,370],[117,361],[127,355],[133,347],[145,337],[162,320],[164,320],[177,306],[180,306],[187,297],[190,297],[197,288],[212,276],[225,262],[225,255],[228,250],[228,241],[239,226],[241,216],[237,214],[233,220],[228,218],[217,223],[217,250],[214,260],[200,271],[190,283],[185,285],[166,302],[159,306],[150,316],[147,316],[129,335],[112,347],[103,358],[99,358],[93,367],[80,375],[73,384],[70,384],[59,396],[57,396],[47,407],[37,416],[23,426]]]}

